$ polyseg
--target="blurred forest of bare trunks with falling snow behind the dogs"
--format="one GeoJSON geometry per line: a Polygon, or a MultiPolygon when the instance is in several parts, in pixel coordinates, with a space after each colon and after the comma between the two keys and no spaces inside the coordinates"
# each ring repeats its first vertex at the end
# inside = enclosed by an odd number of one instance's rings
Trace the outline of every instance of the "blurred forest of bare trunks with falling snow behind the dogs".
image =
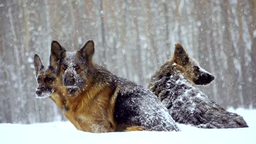
{"type": "Polygon", "coordinates": [[[34,94],[33,56],[48,65],[52,40],[75,51],[92,39],[96,63],[144,86],[181,43],[216,77],[199,87],[208,97],[256,107],[255,0],[2,0],[0,13],[0,123],[64,118],[34,94]]]}

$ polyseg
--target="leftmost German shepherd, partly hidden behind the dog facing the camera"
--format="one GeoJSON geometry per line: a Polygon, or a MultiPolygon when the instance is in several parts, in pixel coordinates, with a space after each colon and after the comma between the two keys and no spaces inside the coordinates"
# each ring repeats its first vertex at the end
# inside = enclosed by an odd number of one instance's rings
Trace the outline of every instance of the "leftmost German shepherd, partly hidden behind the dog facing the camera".
{"type": "Polygon", "coordinates": [[[37,98],[51,98],[69,121],[74,124],[75,128],[80,130],[79,124],[69,115],[67,110],[65,99],[67,91],[61,86],[62,83],[57,71],[58,69],[54,68],[53,65],[44,67],[37,54],[34,55],[34,69],[36,71],[36,80],[38,82],[38,87],[36,89],[37,98]]]}

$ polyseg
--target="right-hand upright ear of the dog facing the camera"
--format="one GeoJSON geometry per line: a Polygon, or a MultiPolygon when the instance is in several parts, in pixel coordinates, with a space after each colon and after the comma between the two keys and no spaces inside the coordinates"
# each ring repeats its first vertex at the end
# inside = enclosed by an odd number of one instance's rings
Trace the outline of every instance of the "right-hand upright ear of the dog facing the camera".
{"type": "Polygon", "coordinates": [[[92,40],[87,41],[87,43],[78,52],[88,62],[91,62],[92,56],[94,56],[94,41],[92,40]]]}

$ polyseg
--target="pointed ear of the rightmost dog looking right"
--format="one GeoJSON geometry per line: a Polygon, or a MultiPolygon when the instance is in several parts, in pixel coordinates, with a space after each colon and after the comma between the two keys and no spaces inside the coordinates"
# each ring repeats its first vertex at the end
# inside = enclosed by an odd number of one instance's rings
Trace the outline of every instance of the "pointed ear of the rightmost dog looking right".
{"type": "Polygon", "coordinates": [[[184,50],[181,44],[175,45],[173,58],[174,58],[174,62],[176,62],[179,65],[186,65],[189,62],[188,53],[184,50]]]}

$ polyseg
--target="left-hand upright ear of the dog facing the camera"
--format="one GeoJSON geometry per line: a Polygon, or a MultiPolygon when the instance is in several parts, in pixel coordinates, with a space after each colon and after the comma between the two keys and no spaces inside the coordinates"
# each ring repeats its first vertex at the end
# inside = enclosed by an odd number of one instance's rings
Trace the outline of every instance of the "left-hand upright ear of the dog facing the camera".
{"type": "Polygon", "coordinates": [[[57,42],[51,42],[51,55],[50,55],[50,65],[57,67],[60,64],[60,59],[66,50],[57,42]]]}

